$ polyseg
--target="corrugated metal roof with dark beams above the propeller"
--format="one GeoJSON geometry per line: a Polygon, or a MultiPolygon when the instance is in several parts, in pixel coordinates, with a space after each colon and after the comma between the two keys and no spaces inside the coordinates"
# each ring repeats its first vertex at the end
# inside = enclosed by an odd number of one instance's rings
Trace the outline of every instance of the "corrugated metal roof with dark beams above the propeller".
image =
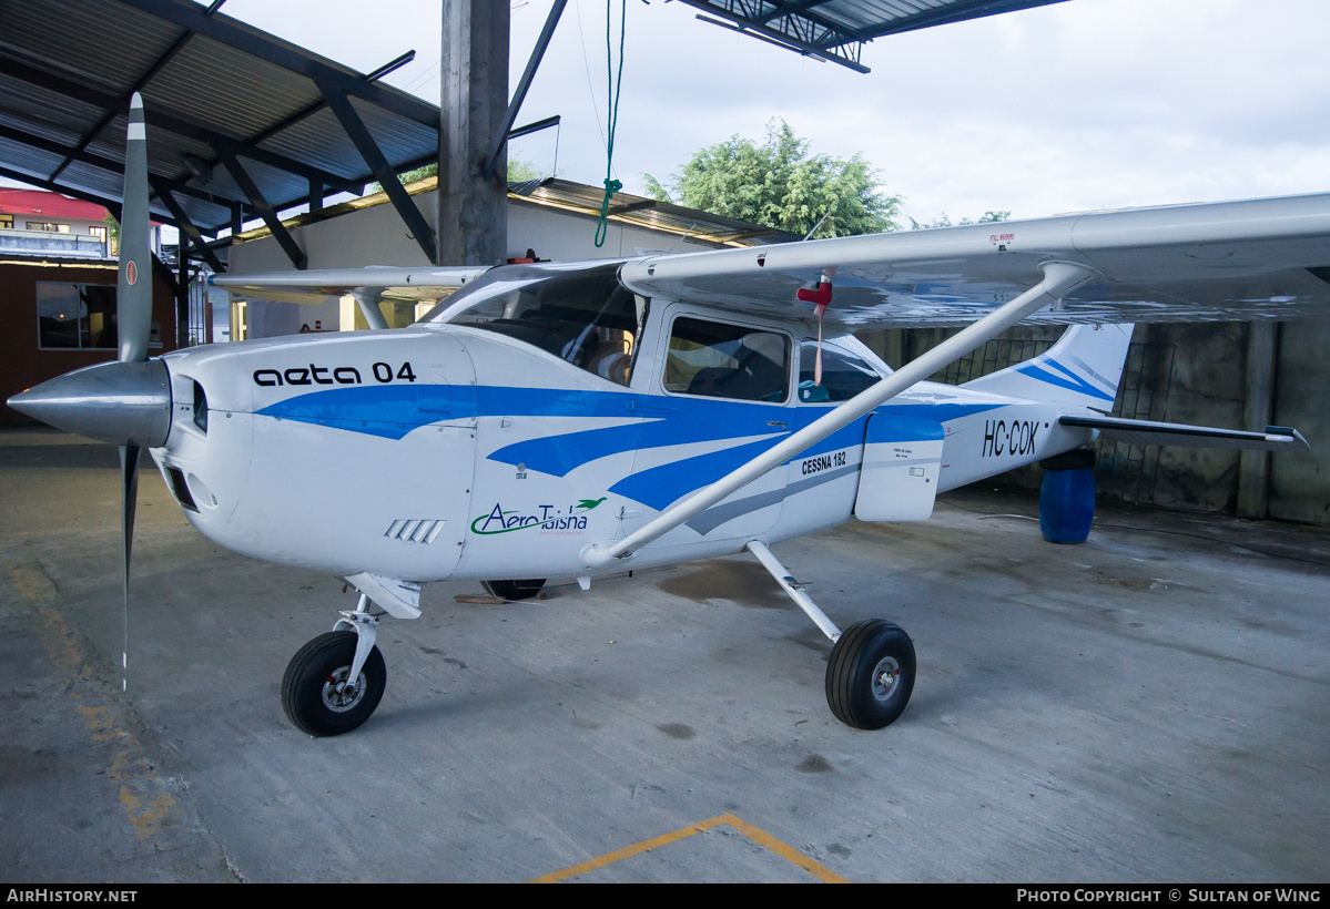
{"type": "Polygon", "coordinates": [[[325,191],[376,179],[325,90],[351,98],[391,167],[439,148],[436,106],[190,0],[0,0],[0,173],[114,207],[136,90],[154,187],[206,234],[237,203],[259,214],[225,150],[275,210],[305,203],[311,178],[325,191]]]}

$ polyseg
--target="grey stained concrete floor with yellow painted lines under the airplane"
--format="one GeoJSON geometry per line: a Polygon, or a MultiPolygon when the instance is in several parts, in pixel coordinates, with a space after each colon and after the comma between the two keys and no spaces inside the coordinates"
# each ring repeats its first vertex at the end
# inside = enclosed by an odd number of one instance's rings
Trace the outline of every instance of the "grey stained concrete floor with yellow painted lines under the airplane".
{"type": "Polygon", "coordinates": [[[315,740],[278,684],[352,595],[145,472],[125,696],[118,508],[113,448],[0,432],[5,880],[1330,878],[1325,529],[1104,509],[1052,546],[1033,500],[962,490],[775,546],[842,627],[912,635],[880,732],[831,718],[827,642],[749,558],[430,585],[378,714],[315,740]]]}

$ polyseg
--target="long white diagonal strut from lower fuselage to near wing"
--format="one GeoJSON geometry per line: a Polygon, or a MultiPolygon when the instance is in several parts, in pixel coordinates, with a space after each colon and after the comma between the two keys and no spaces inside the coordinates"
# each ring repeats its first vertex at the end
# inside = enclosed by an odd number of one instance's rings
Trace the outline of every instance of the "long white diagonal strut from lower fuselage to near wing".
{"type": "Polygon", "coordinates": [[[581,550],[581,563],[587,569],[597,571],[614,565],[618,559],[628,558],[646,544],[662,537],[696,514],[705,512],[730,493],[753,482],[771,468],[785,464],[810,445],[850,425],[879,404],[891,400],[958,357],[992,340],[1025,316],[1047,306],[1049,299],[1060,300],[1081,284],[1099,276],[1097,271],[1079,262],[1043,262],[1039,267],[1044,272],[1044,279],[1011,303],[998,307],[959,335],[948,338],[923,356],[900,367],[900,369],[887,379],[859,392],[845,404],[827,412],[826,416],[818,417],[785,441],[769,448],[710,486],[698,489],[677,505],[665,509],[653,521],[642,525],[634,533],[617,542],[605,541],[587,546],[581,550]]]}

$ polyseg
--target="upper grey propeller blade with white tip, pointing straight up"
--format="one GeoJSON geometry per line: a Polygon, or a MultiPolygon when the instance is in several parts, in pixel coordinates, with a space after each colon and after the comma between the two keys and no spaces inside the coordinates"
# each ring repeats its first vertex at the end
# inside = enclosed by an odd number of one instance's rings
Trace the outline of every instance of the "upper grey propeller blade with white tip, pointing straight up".
{"type": "Polygon", "coordinates": [[[148,359],[153,322],[153,259],[148,219],[148,132],[144,100],[134,92],[129,102],[129,134],[125,144],[125,191],[120,213],[120,280],[116,311],[120,361],[148,359]]]}

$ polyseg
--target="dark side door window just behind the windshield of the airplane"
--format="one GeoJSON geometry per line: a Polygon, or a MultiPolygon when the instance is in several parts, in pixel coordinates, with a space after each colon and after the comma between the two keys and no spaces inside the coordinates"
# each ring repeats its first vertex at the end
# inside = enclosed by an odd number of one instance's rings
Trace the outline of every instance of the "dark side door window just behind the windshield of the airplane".
{"type": "Polygon", "coordinates": [[[774,331],[702,319],[674,320],[665,391],[676,395],[783,401],[790,388],[790,339],[774,331]]]}

